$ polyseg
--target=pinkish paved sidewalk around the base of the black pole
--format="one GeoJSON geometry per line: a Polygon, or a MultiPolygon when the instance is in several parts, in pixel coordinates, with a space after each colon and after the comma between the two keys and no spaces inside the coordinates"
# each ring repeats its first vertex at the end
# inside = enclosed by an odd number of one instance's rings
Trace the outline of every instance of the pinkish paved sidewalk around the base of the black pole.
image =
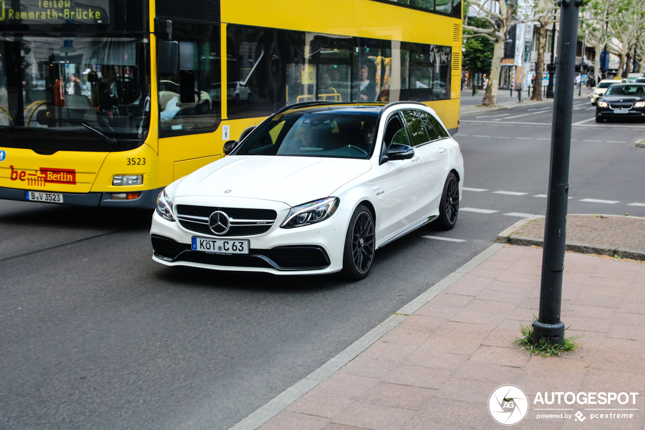
{"type": "MultiPolygon", "coordinates": [[[[591,248],[623,238],[645,255],[643,219],[568,219],[591,248]]],[[[501,236],[541,238],[539,222],[501,236]]],[[[644,428],[645,263],[567,252],[561,320],[578,348],[550,358],[514,343],[538,314],[541,265],[541,248],[492,245],[376,327],[366,349],[352,345],[233,428],[497,429],[489,398],[506,384],[528,396],[518,429],[644,428]]]]}

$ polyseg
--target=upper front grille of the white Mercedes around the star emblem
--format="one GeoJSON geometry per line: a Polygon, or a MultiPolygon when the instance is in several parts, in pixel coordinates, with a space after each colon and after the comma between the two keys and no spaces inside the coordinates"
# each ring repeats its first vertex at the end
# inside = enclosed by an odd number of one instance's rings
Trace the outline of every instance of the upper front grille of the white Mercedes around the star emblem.
{"type": "Polygon", "coordinates": [[[272,209],[177,205],[177,222],[186,230],[213,236],[208,227],[208,217],[217,210],[228,215],[231,221],[230,229],[224,236],[262,234],[272,227],[277,217],[277,212],[272,209]]]}

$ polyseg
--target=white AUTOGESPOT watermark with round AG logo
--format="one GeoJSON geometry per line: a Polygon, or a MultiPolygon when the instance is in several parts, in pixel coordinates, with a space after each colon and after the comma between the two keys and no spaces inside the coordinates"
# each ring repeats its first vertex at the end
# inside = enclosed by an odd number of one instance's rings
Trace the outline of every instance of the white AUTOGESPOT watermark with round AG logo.
{"type": "MultiPolygon", "coordinates": [[[[545,391],[535,394],[532,409],[535,419],[630,420],[639,410],[639,393],[545,391]],[[575,412],[574,412],[575,411],[575,412]]],[[[500,385],[488,398],[490,416],[503,425],[514,425],[529,415],[530,402],[524,390],[517,385],[500,385]]]]}

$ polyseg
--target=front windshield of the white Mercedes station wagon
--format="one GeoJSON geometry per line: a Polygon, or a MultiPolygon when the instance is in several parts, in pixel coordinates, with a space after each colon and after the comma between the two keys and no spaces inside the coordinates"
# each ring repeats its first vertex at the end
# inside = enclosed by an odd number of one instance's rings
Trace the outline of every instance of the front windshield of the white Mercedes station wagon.
{"type": "Polygon", "coordinates": [[[348,110],[278,114],[233,154],[366,159],[372,154],[377,115],[348,110]]]}

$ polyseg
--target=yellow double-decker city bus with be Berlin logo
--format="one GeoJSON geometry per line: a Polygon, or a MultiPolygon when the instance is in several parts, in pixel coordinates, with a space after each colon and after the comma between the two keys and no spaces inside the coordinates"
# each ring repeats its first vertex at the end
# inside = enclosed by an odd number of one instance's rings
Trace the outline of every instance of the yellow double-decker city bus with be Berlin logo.
{"type": "Polygon", "coordinates": [[[459,123],[461,0],[0,0],[0,199],[152,208],[303,101],[459,123]]]}

